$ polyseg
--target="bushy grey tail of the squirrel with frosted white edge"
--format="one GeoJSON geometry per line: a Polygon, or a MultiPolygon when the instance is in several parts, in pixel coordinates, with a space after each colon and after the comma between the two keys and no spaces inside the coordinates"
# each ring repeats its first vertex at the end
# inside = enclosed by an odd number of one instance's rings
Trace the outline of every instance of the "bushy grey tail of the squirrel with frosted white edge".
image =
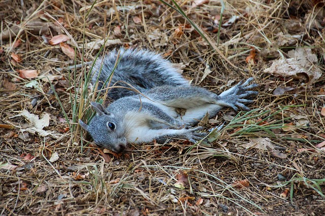
{"type": "Polygon", "coordinates": [[[113,100],[137,94],[133,88],[144,93],[161,85],[188,85],[188,81],[177,72],[172,63],[160,55],[146,50],[124,48],[115,49],[96,60],[91,83],[97,81],[99,90],[106,88],[108,83],[109,87],[117,87],[108,92],[113,100]]]}

